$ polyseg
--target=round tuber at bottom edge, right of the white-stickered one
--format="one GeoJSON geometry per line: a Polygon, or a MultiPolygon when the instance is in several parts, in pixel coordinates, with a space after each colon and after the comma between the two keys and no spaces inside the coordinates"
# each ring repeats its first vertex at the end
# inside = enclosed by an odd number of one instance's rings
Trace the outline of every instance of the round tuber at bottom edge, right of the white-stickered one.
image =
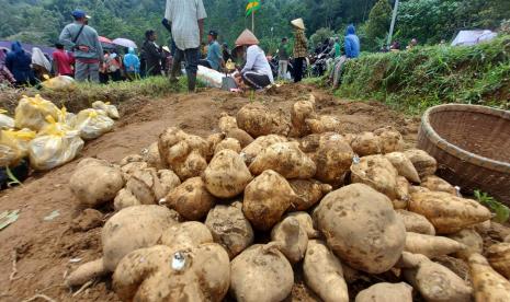
{"type": "Polygon", "coordinates": [[[292,291],[294,272],[274,244],[256,244],[230,263],[230,291],[237,301],[282,301],[292,291]]]}

